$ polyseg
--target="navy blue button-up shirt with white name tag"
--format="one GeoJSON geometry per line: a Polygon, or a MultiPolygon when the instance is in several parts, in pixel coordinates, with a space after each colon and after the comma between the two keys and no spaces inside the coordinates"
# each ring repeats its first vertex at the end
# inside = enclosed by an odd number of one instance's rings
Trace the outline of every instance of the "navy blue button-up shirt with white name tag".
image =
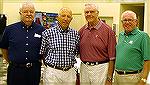
{"type": "Polygon", "coordinates": [[[35,22],[28,28],[22,22],[9,25],[4,30],[0,47],[8,49],[8,58],[12,62],[37,62],[44,30],[35,22]]]}

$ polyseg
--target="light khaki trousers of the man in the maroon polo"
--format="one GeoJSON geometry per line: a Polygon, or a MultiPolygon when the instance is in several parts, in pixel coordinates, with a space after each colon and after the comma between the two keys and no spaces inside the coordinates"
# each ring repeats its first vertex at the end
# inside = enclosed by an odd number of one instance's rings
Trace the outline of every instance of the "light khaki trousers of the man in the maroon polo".
{"type": "Polygon", "coordinates": [[[80,81],[81,85],[104,85],[107,78],[108,63],[94,66],[81,62],[80,81]]]}

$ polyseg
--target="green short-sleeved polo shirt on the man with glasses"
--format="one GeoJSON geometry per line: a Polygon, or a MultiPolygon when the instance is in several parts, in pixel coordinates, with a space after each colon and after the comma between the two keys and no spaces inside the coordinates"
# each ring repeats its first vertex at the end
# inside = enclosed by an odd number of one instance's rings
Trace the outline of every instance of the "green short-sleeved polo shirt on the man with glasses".
{"type": "Polygon", "coordinates": [[[135,28],[128,35],[119,34],[116,46],[117,70],[135,71],[143,69],[144,60],[150,60],[150,37],[147,33],[135,28]]]}

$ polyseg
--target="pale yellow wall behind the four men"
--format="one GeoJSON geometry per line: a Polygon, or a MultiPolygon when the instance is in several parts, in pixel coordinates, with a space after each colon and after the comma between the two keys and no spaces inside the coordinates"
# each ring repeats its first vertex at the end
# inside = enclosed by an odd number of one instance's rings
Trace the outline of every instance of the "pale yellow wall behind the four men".
{"type": "MultiPolygon", "coordinates": [[[[3,12],[8,16],[7,25],[12,24],[14,22],[19,21],[19,7],[21,3],[24,1],[9,1],[6,0],[3,3],[3,12]]],[[[64,1],[62,3],[61,0],[56,1],[40,1],[35,0],[33,1],[36,7],[36,11],[43,11],[49,13],[57,13],[61,7],[69,7],[73,11],[74,20],[71,22],[71,26],[75,29],[80,29],[80,27],[86,23],[83,14],[83,8],[85,2],[67,2],[64,1]]],[[[105,17],[113,17],[113,23],[119,24],[119,10],[120,4],[119,3],[96,3],[99,6],[100,15],[105,17]],[[110,9],[111,7],[111,9],[110,9]],[[114,10],[112,10],[114,9],[114,10]]]]}

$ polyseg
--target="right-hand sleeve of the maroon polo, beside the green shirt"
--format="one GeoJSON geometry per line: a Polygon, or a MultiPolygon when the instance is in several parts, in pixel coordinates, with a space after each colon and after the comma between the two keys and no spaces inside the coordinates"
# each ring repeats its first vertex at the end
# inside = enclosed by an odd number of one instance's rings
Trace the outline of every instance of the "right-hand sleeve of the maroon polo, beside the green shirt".
{"type": "Polygon", "coordinates": [[[112,30],[109,32],[108,56],[110,60],[114,60],[116,57],[116,36],[112,30]]]}

